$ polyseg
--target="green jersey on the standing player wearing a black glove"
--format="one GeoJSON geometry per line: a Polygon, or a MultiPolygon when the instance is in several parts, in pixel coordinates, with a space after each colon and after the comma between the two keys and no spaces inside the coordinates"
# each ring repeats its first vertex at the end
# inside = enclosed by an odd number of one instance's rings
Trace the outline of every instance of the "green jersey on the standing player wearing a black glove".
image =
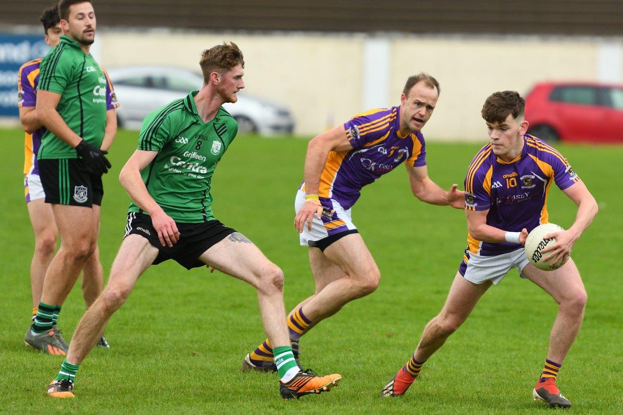
{"type": "MultiPolygon", "coordinates": [[[[62,35],[42,60],[39,74],[40,90],[60,93],[56,110],[69,128],[100,148],[106,128],[106,77],[93,56],[62,35]]],[[[48,130],[41,138],[37,158],[77,158],[77,154],[48,130]]]]}

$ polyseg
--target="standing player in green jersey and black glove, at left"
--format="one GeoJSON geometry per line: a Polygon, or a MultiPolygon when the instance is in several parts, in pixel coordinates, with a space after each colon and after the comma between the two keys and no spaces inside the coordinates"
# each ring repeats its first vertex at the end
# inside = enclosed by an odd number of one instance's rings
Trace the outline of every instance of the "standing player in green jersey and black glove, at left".
{"type": "MultiPolygon", "coordinates": [[[[65,33],[40,65],[35,117],[47,131],[37,159],[45,203],[51,204],[60,248],[43,281],[37,314],[24,341],[54,355],[67,343],[57,318],[80,270],[102,290],[103,270],[97,249],[104,156],[117,131],[114,110],[107,110],[107,77],[90,54],[96,19],[88,0],[62,0],[58,6],[65,33]]],[[[105,343],[104,343],[105,344],[105,343]]]]}

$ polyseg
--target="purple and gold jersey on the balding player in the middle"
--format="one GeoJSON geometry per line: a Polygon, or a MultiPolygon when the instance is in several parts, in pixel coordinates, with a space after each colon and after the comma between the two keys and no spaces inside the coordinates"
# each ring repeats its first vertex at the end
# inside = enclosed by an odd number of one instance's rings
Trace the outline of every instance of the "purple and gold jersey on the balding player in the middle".
{"type": "MultiPolygon", "coordinates": [[[[320,174],[318,197],[334,199],[349,209],[366,184],[402,163],[425,166],[422,133],[400,134],[400,107],[377,108],[344,123],[353,150],[331,151],[320,174]]],[[[302,189],[305,190],[305,184],[302,189]]]]}

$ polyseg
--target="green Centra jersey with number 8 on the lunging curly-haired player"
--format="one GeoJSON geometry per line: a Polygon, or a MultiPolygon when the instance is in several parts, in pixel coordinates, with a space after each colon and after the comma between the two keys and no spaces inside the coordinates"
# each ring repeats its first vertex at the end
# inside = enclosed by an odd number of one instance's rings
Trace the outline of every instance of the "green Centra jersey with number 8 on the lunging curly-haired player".
{"type": "MultiPolygon", "coordinates": [[[[151,197],[176,222],[199,223],[214,219],[212,173],[236,133],[238,123],[223,107],[204,123],[193,97],[174,100],[143,120],[138,150],[158,151],[141,171],[151,197]]],[[[128,212],[139,212],[132,202],[128,212]]]]}

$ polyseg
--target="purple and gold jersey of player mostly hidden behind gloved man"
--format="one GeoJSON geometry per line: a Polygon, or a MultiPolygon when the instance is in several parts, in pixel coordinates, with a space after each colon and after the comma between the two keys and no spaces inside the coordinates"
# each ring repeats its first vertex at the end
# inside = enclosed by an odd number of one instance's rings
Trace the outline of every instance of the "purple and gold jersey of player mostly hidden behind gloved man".
{"type": "MultiPolygon", "coordinates": [[[[37,105],[37,85],[39,85],[40,65],[43,59],[34,59],[19,68],[17,73],[17,107],[36,107],[37,105]]],[[[117,108],[117,96],[110,82],[110,77],[105,69],[102,72],[106,77],[106,109],[117,108]]],[[[33,131],[32,134],[26,133],[24,142],[24,174],[39,174],[37,164],[37,153],[41,146],[41,138],[44,135],[45,127],[33,131]]]]}

